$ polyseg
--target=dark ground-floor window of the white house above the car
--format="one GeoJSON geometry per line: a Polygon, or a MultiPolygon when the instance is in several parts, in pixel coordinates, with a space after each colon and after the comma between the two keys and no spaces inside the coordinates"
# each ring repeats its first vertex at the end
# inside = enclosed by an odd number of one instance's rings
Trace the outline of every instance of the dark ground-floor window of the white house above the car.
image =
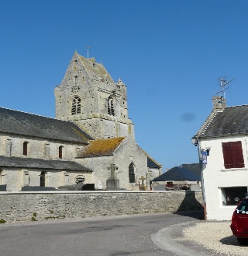
{"type": "Polygon", "coordinates": [[[238,205],[246,197],[247,187],[221,188],[222,205],[238,205]]]}

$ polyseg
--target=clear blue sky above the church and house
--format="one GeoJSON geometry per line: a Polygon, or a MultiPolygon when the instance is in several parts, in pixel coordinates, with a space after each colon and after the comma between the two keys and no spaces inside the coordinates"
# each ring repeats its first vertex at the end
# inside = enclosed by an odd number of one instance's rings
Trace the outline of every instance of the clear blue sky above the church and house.
{"type": "Polygon", "coordinates": [[[0,1],[1,107],[54,117],[53,89],[74,51],[102,61],[128,89],[136,141],[164,170],[198,163],[191,144],[212,110],[247,102],[248,2],[0,1]]]}

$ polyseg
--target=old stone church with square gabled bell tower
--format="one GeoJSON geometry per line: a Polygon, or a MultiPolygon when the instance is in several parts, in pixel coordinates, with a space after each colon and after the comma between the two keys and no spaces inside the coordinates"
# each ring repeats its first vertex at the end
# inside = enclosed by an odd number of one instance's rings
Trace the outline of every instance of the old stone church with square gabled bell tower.
{"type": "Polygon", "coordinates": [[[1,186],[150,190],[162,167],[135,141],[122,80],[76,51],[54,93],[56,118],[0,108],[1,186]]]}

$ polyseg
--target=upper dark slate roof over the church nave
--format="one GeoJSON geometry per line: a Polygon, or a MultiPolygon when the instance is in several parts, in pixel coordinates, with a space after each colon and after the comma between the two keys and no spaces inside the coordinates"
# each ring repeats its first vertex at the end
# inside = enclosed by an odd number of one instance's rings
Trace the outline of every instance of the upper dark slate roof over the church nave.
{"type": "Polygon", "coordinates": [[[88,144],[92,139],[76,124],[0,107],[0,132],[88,144]]]}

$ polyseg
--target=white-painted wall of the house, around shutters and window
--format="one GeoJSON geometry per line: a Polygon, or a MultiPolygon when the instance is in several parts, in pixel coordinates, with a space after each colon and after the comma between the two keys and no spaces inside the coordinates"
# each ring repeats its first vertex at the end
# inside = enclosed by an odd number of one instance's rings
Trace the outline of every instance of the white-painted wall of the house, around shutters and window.
{"type": "Polygon", "coordinates": [[[200,148],[210,148],[208,163],[203,165],[205,201],[207,219],[230,220],[235,205],[222,205],[221,188],[247,187],[247,137],[236,136],[200,141],[200,148]],[[243,147],[244,168],[225,169],[222,154],[222,142],[241,141],[243,147]]]}

